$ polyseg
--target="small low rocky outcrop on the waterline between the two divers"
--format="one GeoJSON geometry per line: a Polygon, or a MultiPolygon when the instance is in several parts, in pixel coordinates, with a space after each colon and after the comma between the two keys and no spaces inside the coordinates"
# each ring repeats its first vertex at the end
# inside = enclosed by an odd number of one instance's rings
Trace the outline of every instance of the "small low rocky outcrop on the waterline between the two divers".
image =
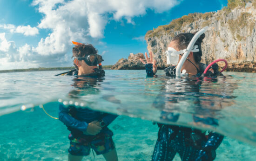
{"type": "Polygon", "coordinates": [[[141,63],[141,60],[145,59],[142,53],[133,54],[131,53],[128,59],[121,58],[111,69],[114,70],[140,70],[145,69],[145,65],[141,63]]]}

